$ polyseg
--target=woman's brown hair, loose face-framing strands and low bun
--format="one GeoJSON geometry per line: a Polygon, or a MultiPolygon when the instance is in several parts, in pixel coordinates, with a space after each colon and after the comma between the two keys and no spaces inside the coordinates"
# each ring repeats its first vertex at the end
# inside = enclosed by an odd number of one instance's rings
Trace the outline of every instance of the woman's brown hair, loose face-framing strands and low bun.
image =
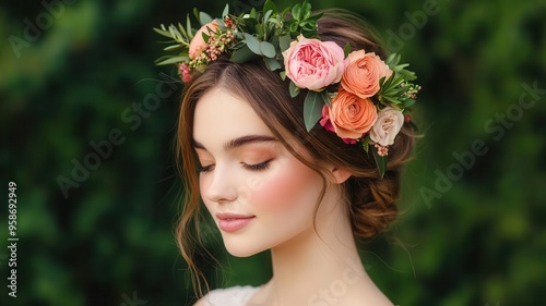
{"type": "MultiPolygon", "coordinates": [[[[381,58],[385,57],[385,50],[360,17],[344,10],[327,10],[323,13],[318,22],[321,40],[335,41],[341,47],[349,42],[353,49],[364,49],[376,52],[381,58]]],[[[281,79],[278,72],[270,71],[261,59],[236,64],[226,57],[221,57],[205,72],[192,75],[183,93],[177,132],[177,156],[181,157],[179,168],[186,194],[176,236],[182,257],[193,271],[193,285],[199,294],[203,293],[200,279],[204,280],[204,276],[198,269],[194,257],[198,252],[195,245],[202,246],[200,224],[203,215],[192,147],[193,114],[200,98],[216,87],[248,101],[283,145],[322,175],[322,195],[327,184],[323,174],[327,164],[351,172],[352,176],[341,187],[344,188],[356,237],[369,240],[394,221],[397,216],[395,199],[400,191],[401,166],[407,161],[413,148],[413,131],[410,125],[402,127],[394,145],[389,147],[388,169],[384,176],[380,178],[373,157],[360,146],[347,145],[334,133],[320,126],[306,131],[302,118],[305,93],[292,98],[288,83],[281,79]],[[294,143],[306,149],[307,158],[297,151],[296,146],[290,145],[294,143]]]]}

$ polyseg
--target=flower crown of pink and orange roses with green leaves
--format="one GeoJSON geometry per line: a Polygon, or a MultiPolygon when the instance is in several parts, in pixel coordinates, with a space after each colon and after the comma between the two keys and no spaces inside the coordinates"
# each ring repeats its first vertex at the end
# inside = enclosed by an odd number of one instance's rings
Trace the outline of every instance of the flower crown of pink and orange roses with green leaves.
{"type": "Polygon", "coordinates": [[[225,7],[221,19],[193,10],[201,28],[195,30],[187,16],[186,28],[179,23],[154,28],[173,40],[165,51],[175,51],[156,61],[176,64],[183,83],[195,71],[203,72],[219,54],[244,63],[262,58],[271,71],[289,78],[289,91],[296,97],[307,89],[304,120],[309,132],[317,123],[335,133],[346,144],[371,151],[378,170],[387,170],[389,146],[404,123],[411,123],[410,107],[420,86],[410,83],[415,73],[399,64],[400,56],[384,61],[373,52],[351,50],[333,41],[321,41],[317,21],[306,1],[280,12],[268,0],[262,11],[252,9],[238,16],[225,7]],[[289,17],[288,17],[288,13],[289,17]]]}

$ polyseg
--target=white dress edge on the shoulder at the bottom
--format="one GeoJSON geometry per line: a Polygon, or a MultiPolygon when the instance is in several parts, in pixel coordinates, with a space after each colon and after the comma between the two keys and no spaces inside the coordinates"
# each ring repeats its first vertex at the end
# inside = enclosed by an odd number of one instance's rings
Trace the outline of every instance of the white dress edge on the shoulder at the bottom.
{"type": "Polygon", "coordinates": [[[216,289],[205,295],[205,306],[245,306],[258,290],[250,285],[216,289]]]}

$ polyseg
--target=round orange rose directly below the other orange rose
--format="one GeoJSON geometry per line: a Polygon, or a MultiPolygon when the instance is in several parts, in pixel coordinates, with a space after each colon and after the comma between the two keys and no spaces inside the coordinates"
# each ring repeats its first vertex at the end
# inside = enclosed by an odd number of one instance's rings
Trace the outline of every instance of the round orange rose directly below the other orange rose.
{"type": "Polygon", "coordinates": [[[341,89],[332,99],[329,118],[337,136],[358,139],[376,123],[377,108],[370,99],[341,89]]]}

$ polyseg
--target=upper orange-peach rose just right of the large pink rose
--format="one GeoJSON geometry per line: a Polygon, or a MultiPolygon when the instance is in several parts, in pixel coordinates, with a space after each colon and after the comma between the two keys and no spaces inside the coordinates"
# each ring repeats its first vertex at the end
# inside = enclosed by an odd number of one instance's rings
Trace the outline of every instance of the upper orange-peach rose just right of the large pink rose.
{"type": "Polygon", "coordinates": [[[376,95],[379,91],[379,79],[392,74],[389,66],[373,52],[353,51],[346,61],[341,86],[363,99],[376,95]]]}

